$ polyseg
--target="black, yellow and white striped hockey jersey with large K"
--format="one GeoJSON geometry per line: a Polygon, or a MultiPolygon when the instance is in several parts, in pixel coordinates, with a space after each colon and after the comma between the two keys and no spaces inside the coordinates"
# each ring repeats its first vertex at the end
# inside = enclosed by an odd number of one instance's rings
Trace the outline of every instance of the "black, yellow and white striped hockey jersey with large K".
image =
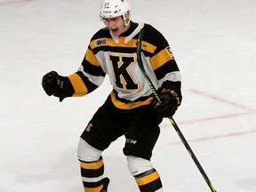
{"type": "Polygon", "coordinates": [[[121,36],[101,28],[88,46],[78,71],[68,76],[73,96],[84,96],[103,83],[108,75],[113,91],[110,97],[116,108],[130,109],[148,105],[153,95],[137,63],[137,42],[145,28],[141,46],[143,66],[157,90],[170,89],[181,100],[180,70],[164,36],[148,24],[131,22],[121,36]]]}

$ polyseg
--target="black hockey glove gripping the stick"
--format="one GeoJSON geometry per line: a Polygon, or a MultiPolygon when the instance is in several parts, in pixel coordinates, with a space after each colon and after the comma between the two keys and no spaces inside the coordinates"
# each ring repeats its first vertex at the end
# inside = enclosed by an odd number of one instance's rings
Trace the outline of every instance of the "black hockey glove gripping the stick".
{"type": "Polygon", "coordinates": [[[175,114],[179,104],[179,98],[175,92],[164,89],[159,95],[162,102],[153,101],[153,106],[158,112],[159,116],[171,117],[175,114]]]}

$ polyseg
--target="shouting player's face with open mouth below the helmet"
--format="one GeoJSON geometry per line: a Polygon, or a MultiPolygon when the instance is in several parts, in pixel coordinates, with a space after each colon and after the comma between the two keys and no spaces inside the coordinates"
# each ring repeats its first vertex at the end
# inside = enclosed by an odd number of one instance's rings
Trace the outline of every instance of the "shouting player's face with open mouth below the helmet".
{"type": "Polygon", "coordinates": [[[120,36],[127,29],[124,25],[122,16],[116,18],[104,18],[103,21],[114,36],[120,36]]]}

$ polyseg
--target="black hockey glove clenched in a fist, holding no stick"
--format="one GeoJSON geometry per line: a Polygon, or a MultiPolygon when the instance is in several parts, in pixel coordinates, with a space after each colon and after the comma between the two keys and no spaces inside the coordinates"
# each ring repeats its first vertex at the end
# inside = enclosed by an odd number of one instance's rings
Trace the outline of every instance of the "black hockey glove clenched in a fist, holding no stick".
{"type": "Polygon", "coordinates": [[[60,102],[66,98],[65,92],[63,91],[63,86],[67,82],[68,77],[59,76],[56,71],[51,71],[43,76],[42,86],[44,88],[44,92],[47,95],[55,96],[60,98],[60,102]]]}

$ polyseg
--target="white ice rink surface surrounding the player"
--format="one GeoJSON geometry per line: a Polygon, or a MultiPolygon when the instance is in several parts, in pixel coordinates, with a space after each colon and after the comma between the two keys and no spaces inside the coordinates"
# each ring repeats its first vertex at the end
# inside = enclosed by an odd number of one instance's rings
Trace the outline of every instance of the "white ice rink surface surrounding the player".
{"type": "MultiPolygon", "coordinates": [[[[218,192],[256,191],[256,1],[131,0],[132,20],[160,30],[180,66],[183,103],[174,119],[218,192]]],[[[76,146],[108,96],[60,103],[41,79],[67,76],[103,27],[100,1],[0,0],[0,191],[82,192],[76,146]]],[[[152,163],[165,192],[207,192],[168,120],[152,163]]],[[[104,153],[110,192],[139,191],[116,140],[104,153]]]]}

